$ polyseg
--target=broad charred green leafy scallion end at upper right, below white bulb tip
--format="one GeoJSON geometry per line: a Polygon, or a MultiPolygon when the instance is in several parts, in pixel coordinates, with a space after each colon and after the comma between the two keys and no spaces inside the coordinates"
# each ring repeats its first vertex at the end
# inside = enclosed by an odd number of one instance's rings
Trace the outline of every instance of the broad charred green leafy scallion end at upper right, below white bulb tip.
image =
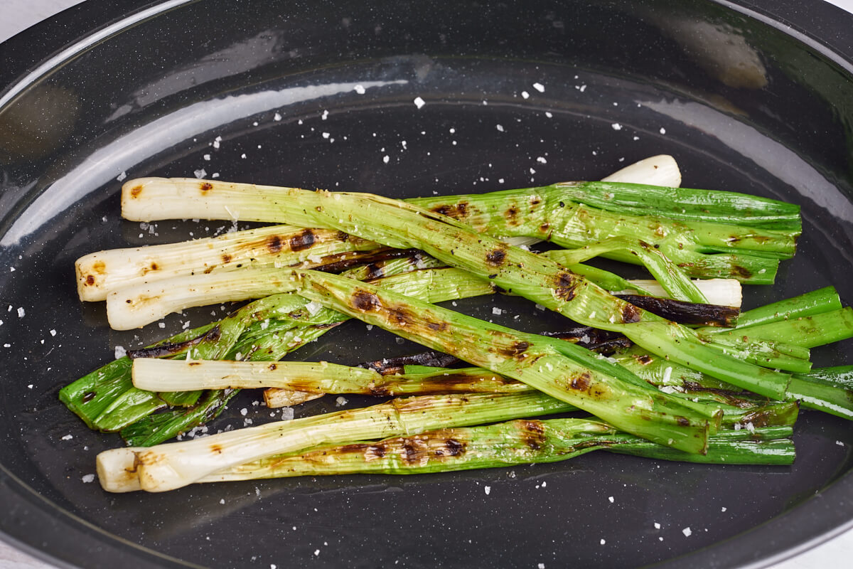
{"type": "MultiPolygon", "coordinates": [[[[551,241],[560,247],[576,248],[603,241],[608,237],[625,236],[659,248],[661,253],[682,267],[688,275],[698,278],[737,278],[751,284],[774,281],[780,259],[791,258],[800,233],[798,221],[792,229],[763,229],[709,223],[699,212],[709,202],[723,206],[726,196],[733,200],[760,201],[769,207],[785,206],[798,220],[798,206],[752,196],[734,195],[695,189],[657,189],[658,195],[676,194],[679,203],[697,200],[691,211],[693,219],[674,221],[666,217],[635,215],[627,211],[606,211],[589,206],[589,201],[577,201],[587,191],[619,195],[652,194],[651,186],[630,183],[580,182],[558,183],[538,188],[512,189],[484,195],[462,195],[409,200],[432,212],[441,212],[490,235],[525,235],[551,241]],[[571,189],[571,192],[567,192],[571,189]],[[705,200],[702,200],[703,197],[705,200]]],[[[657,207],[667,198],[656,200],[657,207]]],[[[611,206],[618,206],[612,203],[611,206]]],[[[686,204],[685,204],[686,206],[686,204]]],[[[618,208],[617,208],[618,209],[618,208]]],[[[686,209],[686,207],[685,207],[686,209]]],[[[719,218],[742,219],[749,225],[751,218],[744,210],[725,207],[730,216],[719,218]]],[[[652,209],[650,211],[659,211],[652,209]]],[[[669,210],[671,212],[671,209],[669,210]]],[[[708,216],[711,218],[711,216],[708,216]]],[[[718,219],[719,219],[718,218],[718,219]]],[[[604,256],[628,263],[637,259],[622,252],[607,252],[604,256]]]]}

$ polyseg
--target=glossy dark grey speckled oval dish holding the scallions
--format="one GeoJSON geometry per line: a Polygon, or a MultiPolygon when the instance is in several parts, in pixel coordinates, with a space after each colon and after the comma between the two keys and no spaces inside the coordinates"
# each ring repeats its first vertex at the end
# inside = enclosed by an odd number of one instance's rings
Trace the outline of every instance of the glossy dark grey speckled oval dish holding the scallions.
{"type": "MultiPolygon", "coordinates": [[[[218,229],[121,221],[125,173],[412,196],[598,178],[668,153],[691,187],[803,206],[797,258],[748,306],[828,284],[853,303],[851,41],[853,17],[828,4],[746,0],[93,1],[12,38],[0,46],[4,538],[86,567],[763,566],[850,527],[853,430],[824,415],[798,423],[793,467],[594,453],[108,495],[84,476],[118,437],[89,432],[56,394],[115,345],[185,319],[110,331],[102,306],[78,302],[74,259],[218,229]]],[[[512,299],[460,309],[488,318],[493,303],[524,314],[521,328],[555,325],[512,299]]],[[[816,362],[853,363],[851,348],[816,362]]],[[[351,322],[297,355],[414,350],[351,322]]],[[[243,407],[270,420],[241,395],[218,428],[243,407]]]]}

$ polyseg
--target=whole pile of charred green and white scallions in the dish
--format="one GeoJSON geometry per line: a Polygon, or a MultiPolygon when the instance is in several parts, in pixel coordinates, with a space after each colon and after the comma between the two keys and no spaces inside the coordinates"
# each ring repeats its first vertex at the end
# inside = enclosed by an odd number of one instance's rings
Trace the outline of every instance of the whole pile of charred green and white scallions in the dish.
{"type": "Polygon", "coordinates": [[[801,405],[853,418],[853,370],[809,362],[810,348],[853,335],[853,312],[827,288],[738,314],[740,282],[772,282],[794,253],[798,207],[679,183],[663,156],[601,183],[406,201],[131,180],[122,193],[131,220],[288,225],[79,259],[81,299],[105,299],[117,329],[191,306],[251,302],[107,363],[63,388],[61,400],[89,427],[131,444],[98,456],[108,491],[427,473],[596,449],[790,463],[801,405]],[[539,240],[565,248],[526,247],[539,240]],[[584,264],[597,256],[643,264],[653,280],[584,264]],[[531,334],[435,304],[492,293],[556,311],[571,329],[531,334]],[[281,361],[350,318],[438,353],[391,366],[281,361]],[[450,367],[451,357],[468,367],[450,367]],[[270,407],[327,393],[392,399],[165,443],[247,388],[265,388],[270,407]]]}

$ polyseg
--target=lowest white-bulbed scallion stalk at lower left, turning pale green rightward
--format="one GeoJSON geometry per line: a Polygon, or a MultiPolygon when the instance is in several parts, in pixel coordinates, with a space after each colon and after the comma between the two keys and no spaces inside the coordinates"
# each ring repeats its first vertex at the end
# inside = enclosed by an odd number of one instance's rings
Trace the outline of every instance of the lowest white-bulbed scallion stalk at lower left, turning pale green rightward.
{"type": "Polygon", "coordinates": [[[320,444],[413,435],[571,410],[575,410],[571,404],[537,392],[392,399],[362,409],[275,421],[179,443],[105,450],[97,456],[97,473],[107,491],[168,491],[194,484],[223,468],[320,444]]]}

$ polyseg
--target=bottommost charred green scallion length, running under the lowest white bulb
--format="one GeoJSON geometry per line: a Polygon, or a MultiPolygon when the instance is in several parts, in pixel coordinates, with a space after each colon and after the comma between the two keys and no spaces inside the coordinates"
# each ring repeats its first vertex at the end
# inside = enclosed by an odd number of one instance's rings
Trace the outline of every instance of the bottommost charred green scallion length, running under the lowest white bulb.
{"type": "Polygon", "coordinates": [[[593,450],[705,464],[788,465],[794,460],[791,433],[791,427],[721,431],[709,439],[707,454],[694,455],[619,433],[601,421],[527,419],[269,456],[212,473],[200,482],[336,474],[439,473],[560,462],[593,450]]]}

